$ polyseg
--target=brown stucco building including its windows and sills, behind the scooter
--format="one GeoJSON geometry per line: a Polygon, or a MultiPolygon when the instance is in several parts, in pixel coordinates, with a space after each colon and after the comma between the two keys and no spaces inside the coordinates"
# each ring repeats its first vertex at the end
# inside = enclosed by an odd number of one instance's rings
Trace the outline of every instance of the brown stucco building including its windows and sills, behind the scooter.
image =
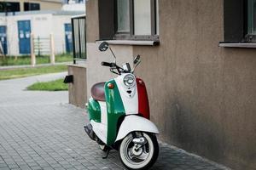
{"type": "MultiPolygon", "coordinates": [[[[97,51],[119,63],[141,54],[160,139],[234,169],[256,167],[256,1],[89,0],[87,94],[113,77],[97,51]]],[[[136,123],[136,122],[135,122],[136,123]]]]}

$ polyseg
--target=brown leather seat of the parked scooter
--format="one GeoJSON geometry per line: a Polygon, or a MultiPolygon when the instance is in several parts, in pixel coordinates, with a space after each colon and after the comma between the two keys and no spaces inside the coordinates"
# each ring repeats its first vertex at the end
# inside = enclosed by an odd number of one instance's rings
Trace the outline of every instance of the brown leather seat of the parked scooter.
{"type": "Polygon", "coordinates": [[[91,97],[98,101],[106,101],[105,99],[105,90],[104,90],[105,82],[98,82],[91,88],[91,97]]]}

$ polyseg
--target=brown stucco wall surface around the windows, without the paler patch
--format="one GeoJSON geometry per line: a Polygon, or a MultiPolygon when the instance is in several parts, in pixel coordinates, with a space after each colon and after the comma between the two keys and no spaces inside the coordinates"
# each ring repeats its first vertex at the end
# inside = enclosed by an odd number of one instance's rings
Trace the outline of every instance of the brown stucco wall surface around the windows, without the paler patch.
{"type": "MultiPolygon", "coordinates": [[[[136,73],[147,83],[161,140],[250,170],[256,167],[256,49],[218,47],[223,3],[160,0],[160,46],[126,48],[142,56],[136,73]]],[[[87,40],[94,42],[97,1],[86,5],[87,40]]]]}

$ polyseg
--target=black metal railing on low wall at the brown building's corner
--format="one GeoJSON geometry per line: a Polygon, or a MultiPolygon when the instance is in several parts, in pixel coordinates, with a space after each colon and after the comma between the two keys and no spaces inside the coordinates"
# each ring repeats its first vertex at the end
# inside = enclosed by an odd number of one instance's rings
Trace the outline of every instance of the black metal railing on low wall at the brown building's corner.
{"type": "Polygon", "coordinates": [[[86,59],[86,17],[85,14],[71,19],[73,35],[73,63],[86,59]]]}

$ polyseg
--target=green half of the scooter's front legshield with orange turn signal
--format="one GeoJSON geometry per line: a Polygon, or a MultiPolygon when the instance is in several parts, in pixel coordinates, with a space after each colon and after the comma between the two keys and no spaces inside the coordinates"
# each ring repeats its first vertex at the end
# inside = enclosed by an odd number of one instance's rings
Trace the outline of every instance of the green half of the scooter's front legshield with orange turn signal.
{"type": "Polygon", "coordinates": [[[111,145],[114,144],[117,136],[119,118],[125,116],[125,107],[114,80],[105,84],[105,97],[108,111],[107,144],[111,145]],[[109,83],[113,84],[113,88],[108,88],[109,83]]]}

